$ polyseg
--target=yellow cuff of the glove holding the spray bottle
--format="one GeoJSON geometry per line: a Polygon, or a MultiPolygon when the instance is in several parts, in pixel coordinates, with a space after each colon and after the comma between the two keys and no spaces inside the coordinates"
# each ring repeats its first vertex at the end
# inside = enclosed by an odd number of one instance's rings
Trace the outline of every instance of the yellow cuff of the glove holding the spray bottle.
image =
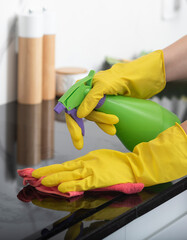
{"type": "Polygon", "coordinates": [[[124,89],[127,90],[124,95],[148,99],[165,88],[166,73],[162,50],[154,51],[132,62],[122,64],[124,70],[121,77],[125,83],[124,89]]]}

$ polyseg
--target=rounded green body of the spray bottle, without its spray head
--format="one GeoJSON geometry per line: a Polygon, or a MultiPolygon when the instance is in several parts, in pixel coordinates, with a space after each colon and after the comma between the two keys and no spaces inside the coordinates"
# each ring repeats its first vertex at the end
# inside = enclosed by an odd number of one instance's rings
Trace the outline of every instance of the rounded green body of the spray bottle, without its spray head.
{"type": "Polygon", "coordinates": [[[116,135],[130,151],[141,142],[148,142],[162,131],[180,123],[178,117],[161,105],[144,99],[124,96],[106,96],[98,111],[119,118],[116,135]]]}

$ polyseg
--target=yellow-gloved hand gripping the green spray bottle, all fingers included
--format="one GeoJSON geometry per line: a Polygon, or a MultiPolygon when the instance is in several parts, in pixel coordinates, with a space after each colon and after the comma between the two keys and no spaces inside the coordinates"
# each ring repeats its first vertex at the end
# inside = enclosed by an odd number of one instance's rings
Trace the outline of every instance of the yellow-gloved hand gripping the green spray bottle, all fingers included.
{"type": "MultiPolygon", "coordinates": [[[[114,124],[119,121],[117,116],[93,110],[104,94],[149,98],[164,86],[165,68],[161,50],[128,63],[117,63],[111,69],[95,74],[93,88],[79,106],[77,116],[94,121],[105,133],[115,135],[114,124]]],[[[84,140],[80,127],[68,116],[66,123],[75,148],[82,149],[84,140]]]]}

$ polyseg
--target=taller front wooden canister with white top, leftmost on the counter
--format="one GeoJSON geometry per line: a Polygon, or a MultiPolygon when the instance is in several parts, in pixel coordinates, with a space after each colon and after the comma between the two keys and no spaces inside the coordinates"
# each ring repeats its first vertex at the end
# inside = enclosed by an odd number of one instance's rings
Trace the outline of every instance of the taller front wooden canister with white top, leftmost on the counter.
{"type": "Polygon", "coordinates": [[[42,101],[43,14],[28,10],[18,17],[18,102],[42,101]]]}

